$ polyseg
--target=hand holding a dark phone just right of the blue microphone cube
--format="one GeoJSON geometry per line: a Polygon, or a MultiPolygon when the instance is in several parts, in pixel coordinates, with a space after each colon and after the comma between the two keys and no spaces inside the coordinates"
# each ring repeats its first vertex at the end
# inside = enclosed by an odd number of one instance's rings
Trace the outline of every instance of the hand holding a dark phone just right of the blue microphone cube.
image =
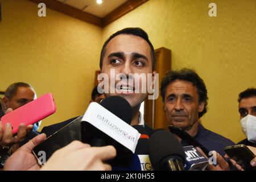
{"type": "MultiPolygon", "coordinates": [[[[209,160],[208,156],[204,154],[204,152],[201,150],[201,148],[196,147],[196,149],[209,160]]],[[[212,156],[216,158],[217,166],[213,166],[213,164],[208,164],[207,169],[210,171],[230,171],[229,164],[225,161],[224,158],[218,152],[212,151],[212,156]]]]}

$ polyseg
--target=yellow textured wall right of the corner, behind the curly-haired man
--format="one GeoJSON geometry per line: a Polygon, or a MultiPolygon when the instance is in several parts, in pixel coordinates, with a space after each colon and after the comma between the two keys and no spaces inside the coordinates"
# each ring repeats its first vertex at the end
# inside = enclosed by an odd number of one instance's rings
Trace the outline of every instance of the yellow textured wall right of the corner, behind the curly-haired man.
{"type": "Polygon", "coordinates": [[[193,68],[205,81],[208,129],[232,139],[245,138],[238,93],[256,86],[256,1],[150,0],[105,27],[102,42],[125,27],[141,27],[155,48],[172,51],[172,69],[193,68]],[[215,2],[217,17],[208,16],[215,2]]]}

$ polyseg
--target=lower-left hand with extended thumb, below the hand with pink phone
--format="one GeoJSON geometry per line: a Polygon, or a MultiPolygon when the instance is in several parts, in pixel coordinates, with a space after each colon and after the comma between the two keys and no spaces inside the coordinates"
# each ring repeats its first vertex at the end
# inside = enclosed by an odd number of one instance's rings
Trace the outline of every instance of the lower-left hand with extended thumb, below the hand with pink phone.
{"type": "Polygon", "coordinates": [[[46,139],[46,134],[40,134],[21,146],[9,159],[6,160],[5,171],[39,170],[38,160],[32,154],[35,146],[46,139]]]}

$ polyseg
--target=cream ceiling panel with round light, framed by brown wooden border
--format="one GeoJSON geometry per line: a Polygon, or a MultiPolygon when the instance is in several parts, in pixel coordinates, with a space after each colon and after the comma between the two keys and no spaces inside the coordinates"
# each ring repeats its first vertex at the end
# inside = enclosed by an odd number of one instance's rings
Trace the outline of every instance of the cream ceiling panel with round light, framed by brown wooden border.
{"type": "Polygon", "coordinates": [[[103,18],[118,6],[122,5],[127,0],[102,0],[102,4],[98,5],[96,0],[57,0],[65,5],[75,7],[76,9],[103,18]]]}

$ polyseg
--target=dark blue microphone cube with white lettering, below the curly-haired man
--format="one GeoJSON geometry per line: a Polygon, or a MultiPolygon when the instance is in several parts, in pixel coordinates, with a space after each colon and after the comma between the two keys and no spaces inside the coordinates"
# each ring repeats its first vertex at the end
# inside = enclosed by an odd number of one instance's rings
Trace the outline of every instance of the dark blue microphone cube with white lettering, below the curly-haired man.
{"type": "Polygon", "coordinates": [[[185,152],[185,171],[204,171],[209,161],[193,146],[183,147],[185,152]]]}

